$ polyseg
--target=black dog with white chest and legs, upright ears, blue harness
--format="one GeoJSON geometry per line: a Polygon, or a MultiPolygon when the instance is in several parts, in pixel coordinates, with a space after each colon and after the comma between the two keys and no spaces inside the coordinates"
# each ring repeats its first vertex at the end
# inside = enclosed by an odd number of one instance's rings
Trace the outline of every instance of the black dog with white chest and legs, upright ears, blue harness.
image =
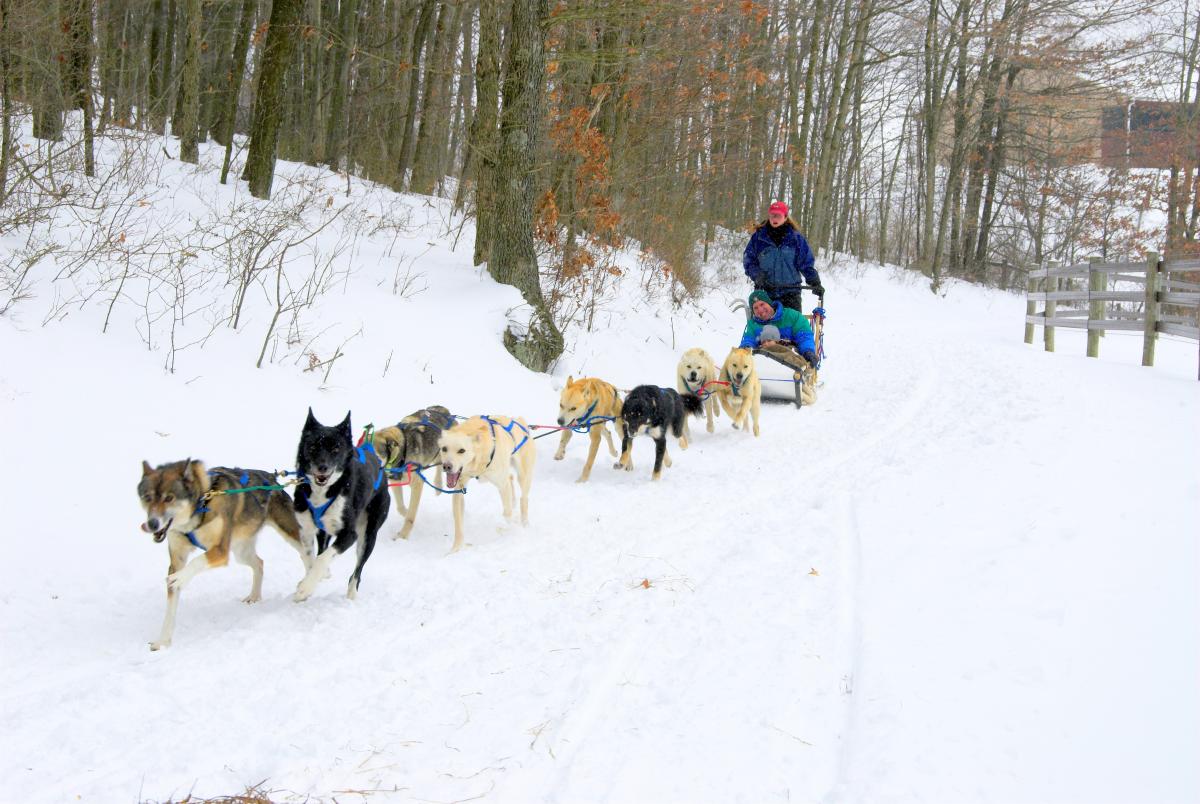
{"type": "Polygon", "coordinates": [[[354,446],[350,414],[342,424],[325,427],[312,415],[304,422],[296,451],[300,485],[295,492],[296,518],[306,536],[316,533],[317,558],[296,587],[293,600],[307,600],[329,576],[329,565],[350,545],[358,545],[358,564],[346,596],[359,592],[362,565],[374,550],[376,534],[388,518],[388,484],[370,443],[354,446]]]}

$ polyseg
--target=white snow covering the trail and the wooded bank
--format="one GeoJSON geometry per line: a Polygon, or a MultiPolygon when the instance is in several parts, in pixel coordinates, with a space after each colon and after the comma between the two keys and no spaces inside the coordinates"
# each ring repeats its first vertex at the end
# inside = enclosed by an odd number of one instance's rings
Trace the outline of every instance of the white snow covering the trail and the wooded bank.
{"type": "MultiPolygon", "coordinates": [[[[156,214],[251,203],[205,158],[167,163],[156,214]]],[[[0,800],[1200,799],[1195,344],[1141,368],[1138,338],[1088,360],[1060,330],[1045,354],[1022,299],[880,266],[824,268],[818,404],[766,407],[761,438],[694,422],[661,482],[647,439],[584,485],[584,439],[563,462],[540,440],[528,528],[473,486],[448,556],[449,499],[426,496],[353,602],[343,557],[293,604],[300,563],[266,532],[264,600],[238,602],[245,568],[204,574],[148,650],[167,557],[138,529],[143,458],[289,467],[308,406],[548,424],[569,373],[673,384],[684,349],[720,359],[740,331],[740,286],[672,311],[629,281],[534,374],[500,346],[517,296],[470,266],[469,224],[452,251],[442,202],[354,192],[412,223],[361,234],[300,323],[322,359],[362,330],[328,383],[254,368],[265,294],[238,331],[217,307],[180,324],[205,340],[173,374],[133,300],[103,336],[101,301],[43,326],[44,282],[0,318],[0,800]],[[424,289],[392,293],[404,272],[424,289]]]]}

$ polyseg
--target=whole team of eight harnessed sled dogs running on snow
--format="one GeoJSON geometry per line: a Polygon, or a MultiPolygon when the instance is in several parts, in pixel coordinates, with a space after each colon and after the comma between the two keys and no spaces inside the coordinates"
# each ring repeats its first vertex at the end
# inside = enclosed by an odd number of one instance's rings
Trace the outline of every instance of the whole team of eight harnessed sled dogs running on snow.
{"type": "MultiPolygon", "coordinates": [[[[620,455],[614,469],[634,469],[634,437],[654,439],[654,472],[671,466],[668,436],[688,449],[688,416],[706,415],[707,430],[725,413],[733,427],[746,428],[751,421],[758,436],[761,386],[750,349],[734,348],[718,368],[703,349],[689,349],[676,371],[676,388],[638,385],[622,398],[617,388],[596,378],[569,377],[559,396],[558,426],[563,428],[554,452],[560,461],[572,432],[587,432],[588,457],[577,482],[587,481],[595,463],[600,439],[617,457],[611,421],[620,438],[620,455]]],[[[138,496],[145,509],[142,529],[155,542],[167,541],[167,613],[151,650],[170,644],[175,613],[184,587],[204,570],[224,566],[233,553],[253,575],[245,602],[262,599],[263,559],[256,540],[270,524],[300,554],[305,575],[293,600],[307,600],[330,576],[334,559],[355,551],[354,571],[347,596],[358,594],[362,568],[374,548],[379,528],[388,518],[389,475],[401,474],[402,485],[392,484],[396,512],[404,517],[397,539],[407,539],[416,521],[425,486],[421,472],[436,467],[438,491],[454,494],[454,546],[463,544],[463,506],[467,481],[486,480],[499,490],[505,520],[514,515],[514,494],[521,492],[521,523],[529,521],[529,487],[538,451],[532,427],[521,418],[472,416],[458,420],[444,407],[430,407],[404,416],[396,425],[374,431],[370,440],[354,442],[350,415],[325,426],[308,409],[296,450],[298,485],[289,496],[276,485],[275,475],[259,469],[216,467],[208,469],[191,458],[151,467],[142,462],[138,496]],[[420,475],[420,478],[414,476],[420,475]],[[445,488],[439,488],[442,485],[445,488]],[[403,488],[410,488],[406,503],[403,488]],[[193,551],[199,554],[191,557],[193,551]],[[190,558],[191,557],[191,558],[190,558]]]]}

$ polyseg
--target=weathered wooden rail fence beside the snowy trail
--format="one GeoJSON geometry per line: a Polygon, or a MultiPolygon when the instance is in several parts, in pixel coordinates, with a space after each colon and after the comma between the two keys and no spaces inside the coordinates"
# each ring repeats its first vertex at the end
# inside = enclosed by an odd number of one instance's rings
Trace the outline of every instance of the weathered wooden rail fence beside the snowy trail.
{"type": "Polygon", "coordinates": [[[1045,349],[1054,352],[1056,328],[1084,329],[1087,356],[1098,358],[1105,331],[1141,332],[1141,365],[1153,366],[1154,343],[1158,334],[1164,332],[1196,341],[1200,379],[1200,282],[1183,280],[1196,271],[1200,259],[1162,260],[1154,253],[1140,263],[1104,263],[1092,258],[1076,265],[1050,263],[1031,270],[1025,342],[1033,343],[1033,328],[1042,326],[1045,349]],[[1135,287],[1117,289],[1121,286],[1135,287]]]}

